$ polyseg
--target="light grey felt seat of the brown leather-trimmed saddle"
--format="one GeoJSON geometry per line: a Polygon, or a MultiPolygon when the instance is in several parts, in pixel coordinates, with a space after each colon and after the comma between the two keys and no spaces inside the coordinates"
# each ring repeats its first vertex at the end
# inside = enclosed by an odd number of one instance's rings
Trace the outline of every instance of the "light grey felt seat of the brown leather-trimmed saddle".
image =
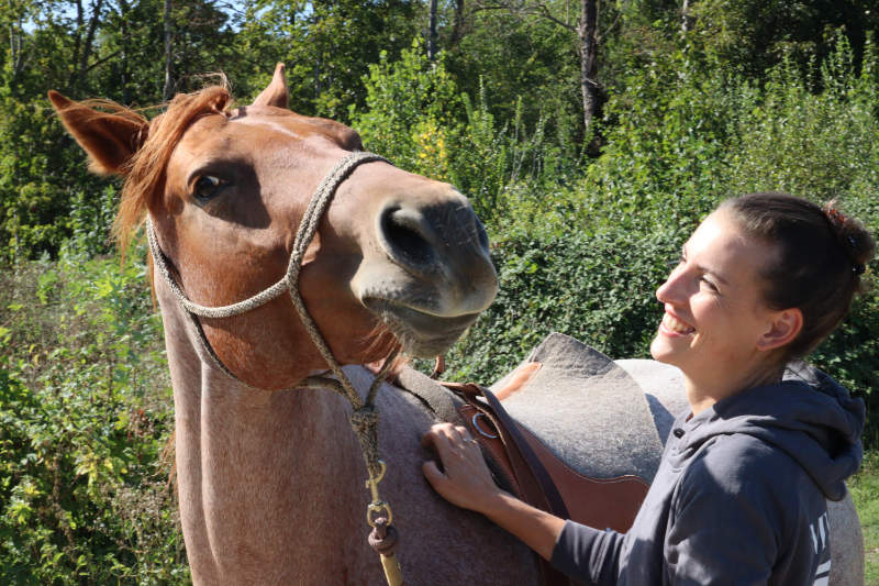
{"type": "Polygon", "coordinates": [[[525,362],[543,366],[502,403],[547,449],[591,478],[654,477],[663,443],[644,392],[624,369],[560,333],[549,334],[525,362]]]}

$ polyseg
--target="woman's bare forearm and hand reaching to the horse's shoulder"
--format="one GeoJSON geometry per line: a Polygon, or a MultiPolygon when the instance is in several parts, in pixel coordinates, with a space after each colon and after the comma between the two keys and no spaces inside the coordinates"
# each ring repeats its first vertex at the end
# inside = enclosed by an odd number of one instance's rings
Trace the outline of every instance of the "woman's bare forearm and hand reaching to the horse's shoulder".
{"type": "Polygon", "coordinates": [[[485,515],[545,560],[552,559],[565,520],[501,490],[491,477],[479,444],[465,428],[438,423],[424,435],[422,444],[439,456],[439,465],[427,461],[422,471],[443,498],[485,515]]]}

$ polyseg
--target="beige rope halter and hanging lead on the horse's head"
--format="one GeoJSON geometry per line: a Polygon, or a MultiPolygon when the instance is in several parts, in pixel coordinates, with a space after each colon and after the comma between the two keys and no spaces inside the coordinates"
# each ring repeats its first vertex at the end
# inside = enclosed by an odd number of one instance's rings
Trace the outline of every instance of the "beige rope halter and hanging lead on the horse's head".
{"type": "Polygon", "coordinates": [[[309,376],[297,385],[297,387],[330,389],[345,397],[351,403],[353,412],[348,421],[359,441],[366,469],[369,474],[369,478],[366,480],[366,488],[369,489],[371,501],[367,506],[366,520],[372,528],[372,531],[369,534],[368,541],[379,553],[381,566],[389,586],[404,586],[400,564],[394,554],[398,534],[397,530],[391,526],[393,513],[390,505],[381,499],[378,490],[378,484],[385,477],[387,465],[381,460],[378,451],[378,410],[375,407],[378,389],[393,365],[399,350],[396,350],[385,360],[383,365],[369,387],[366,400],[361,399],[354,389],[354,385],[352,385],[347,375],[342,371],[342,366],[338,364],[338,361],[336,361],[323,335],[321,335],[318,324],[314,323],[314,320],[309,314],[298,287],[299,273],[302,258],[305,255],[305,250],[314,237],[321,218],[330,206],[336,189],[342,181],[351,175],[355,167],[363,163],[374,161],[387,163],[383,157],[365,152],[352,153],[336,163],[321,181],[321,185],[318,186],[316,191],[309,201],[305,213],[302,215],[290,252],[290,262],[287,265],[287,273],[278,283],[244,301],[223,307],[205,307],[191,301],[174,280],[165,254],[158,245],[153,222],[148,218],[146,220],[146,237],[149,243],[149,251],[153,254],[153,261],[168,285],[168,288],[179,303],[192,314],[204,318],[229,318],[263,306],[280,296],[283,291],[290,294],[290,299],[302,320],[302,324],[305,327],[305,330],[318,347],[318,351],[321,353],[321,356],[326,361],[327,366],[330,366],[330,371],[335,375],[335,378],[320,375],[309,376]]]}

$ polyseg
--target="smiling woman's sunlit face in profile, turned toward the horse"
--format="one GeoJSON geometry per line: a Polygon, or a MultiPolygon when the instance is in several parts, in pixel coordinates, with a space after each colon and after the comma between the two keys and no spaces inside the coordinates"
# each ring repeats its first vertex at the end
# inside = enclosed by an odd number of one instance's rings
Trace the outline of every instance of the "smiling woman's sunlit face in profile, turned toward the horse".
{"type": "Polygon", "coordinates": [[[757,373],[767,358],[761,341],[778,313],[764,303],[758,275],[772,254],[745,236],[728,212],[709,215],[656,291],[665,314],[653,357],[697,383],[724,385],[757,373]]]}

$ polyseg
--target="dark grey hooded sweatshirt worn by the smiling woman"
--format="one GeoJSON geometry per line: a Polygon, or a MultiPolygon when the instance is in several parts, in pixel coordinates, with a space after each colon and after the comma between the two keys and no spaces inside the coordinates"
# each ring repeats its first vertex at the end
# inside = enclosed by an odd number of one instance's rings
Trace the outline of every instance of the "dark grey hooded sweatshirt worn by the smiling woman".
{"type": "Polygon", "coordinates": [[[552,563],[583,584],[826,584],[825,497],[860,465],[864,402],[800,367],[688,417],[630,531],[568,521],[552,563]]]}

